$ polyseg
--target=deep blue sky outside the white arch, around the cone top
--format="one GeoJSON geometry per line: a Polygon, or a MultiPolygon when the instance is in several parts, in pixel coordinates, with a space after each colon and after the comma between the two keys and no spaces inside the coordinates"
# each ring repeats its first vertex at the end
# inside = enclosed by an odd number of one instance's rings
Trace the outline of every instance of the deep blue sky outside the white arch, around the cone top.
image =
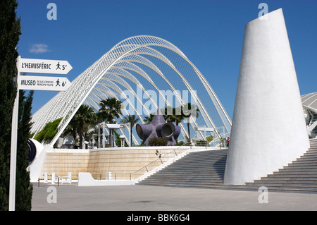
{"type": "MultiPolygon", "coordinates": [[[[74,80],[121,40],[154,35],[180,48],[215,90],[232,118],[244,26],[282,8],[301,95],[317,91],[316,0],[20,0],[22,58],[67,60],[74,80]],[[57,20],[48,20],[49,3],[57,20]]],[[[56,92],[35,91],[33,113],[56,92]]]]}

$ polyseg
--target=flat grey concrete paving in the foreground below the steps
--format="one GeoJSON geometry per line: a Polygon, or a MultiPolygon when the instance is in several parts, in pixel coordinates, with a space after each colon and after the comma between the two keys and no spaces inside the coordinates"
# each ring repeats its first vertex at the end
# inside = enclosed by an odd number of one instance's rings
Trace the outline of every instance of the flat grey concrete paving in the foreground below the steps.
{"type": "Polygon", "coordinates": [[[33,211],[280,211],[316,210],[316,193],[33,184],[33,211]],[[54,187],[54,188],[51,188],[54,187]],[[266,200],[266,202],[263,200],[266,200]],[[51,203],[50,203],[51,202],[51,203]],[[55,203],[56,202],[56,203],[55,203]]]}

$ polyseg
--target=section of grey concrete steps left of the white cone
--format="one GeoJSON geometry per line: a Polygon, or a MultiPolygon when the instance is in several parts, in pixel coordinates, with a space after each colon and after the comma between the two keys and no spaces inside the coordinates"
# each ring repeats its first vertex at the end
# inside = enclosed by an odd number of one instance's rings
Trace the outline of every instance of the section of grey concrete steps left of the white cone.
{"type": "Polygon", "coordinates": [[[190,152],[139,185],[211,188],[223,186],[227,149],[190,152]]]}

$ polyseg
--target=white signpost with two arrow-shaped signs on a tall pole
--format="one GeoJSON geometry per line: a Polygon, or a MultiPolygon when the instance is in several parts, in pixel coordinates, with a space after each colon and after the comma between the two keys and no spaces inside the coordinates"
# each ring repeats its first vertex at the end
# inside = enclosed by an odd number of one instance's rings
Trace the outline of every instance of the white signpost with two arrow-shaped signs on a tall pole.
{"type": "MultiPolygon", "coordinates": [[[[70,81],[61,77],[20,76],[20,73],[49,73],[66,75],[73,67],[68,61],[46,59],[21,59],[17,60],[18,74],[16,76],[17,89],[19,90],[53,90],[66,91],[70,81]]],[[[15,210],[15,178],[16,154],[18,141],[18,108],[19,92],[15,97],[12,124],[11,124],[11,157],[10,157],[10,186],[9,186],[9,211],[15,210]]]]}

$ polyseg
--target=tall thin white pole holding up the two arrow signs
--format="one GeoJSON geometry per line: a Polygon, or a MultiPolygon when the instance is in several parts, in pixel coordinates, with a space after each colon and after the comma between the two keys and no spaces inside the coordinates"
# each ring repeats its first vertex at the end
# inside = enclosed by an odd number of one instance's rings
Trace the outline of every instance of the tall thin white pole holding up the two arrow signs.
{"type": "Polygon", "coordinates": [[[20,83],[20,59],[18,56],[16,75],[17,93],[14,101],[11,123],[11,158],[10,158],[10,185],[9,185],[9,211],[15,211],[15,180],[16,180],[16,152],[18,142],[18,113],[19,113],[19,83],[20,83]]]}

